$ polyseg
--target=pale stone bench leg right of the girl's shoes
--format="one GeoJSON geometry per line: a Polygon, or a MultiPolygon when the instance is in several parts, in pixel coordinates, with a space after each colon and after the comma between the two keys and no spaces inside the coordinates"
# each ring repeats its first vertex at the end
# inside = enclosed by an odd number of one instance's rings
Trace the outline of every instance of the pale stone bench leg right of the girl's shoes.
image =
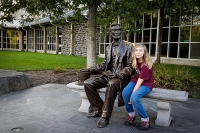
{"type": "Polygon", "coordinates": [[[169,127],[171,123],[171,103],[167,101],[157,101],[156,125],[169,127]]]}

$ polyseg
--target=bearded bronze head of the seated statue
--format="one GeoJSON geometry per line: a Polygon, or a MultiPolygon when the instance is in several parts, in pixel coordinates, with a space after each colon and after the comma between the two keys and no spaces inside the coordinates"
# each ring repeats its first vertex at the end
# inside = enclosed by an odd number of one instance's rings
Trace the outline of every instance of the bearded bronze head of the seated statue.
{"type": "Polygon", "coordinates": [[[110,26],[110,35],[113,39],[120,39],[122,34],[122,26],[118,23],[112,23],[110,26]]]}

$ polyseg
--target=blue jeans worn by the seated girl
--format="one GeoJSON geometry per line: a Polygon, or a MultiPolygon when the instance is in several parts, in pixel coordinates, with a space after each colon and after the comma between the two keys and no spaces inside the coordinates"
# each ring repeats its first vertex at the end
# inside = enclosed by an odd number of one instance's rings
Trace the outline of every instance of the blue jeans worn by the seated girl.
{"type": "Polygon", "coordinates": [[[135,109],[141,118],[147,118],[148,117],[147,113],[144,109],[144,106],[142,105],[140,101],[140,98],[148,94],[151,90],[149,87],[142,85],[140,86],[140,88],[137,89],[137,91],[135,91],[132,94],[135,85],[136,85],[135,83],[129,82],[122,92],[126,110],[128,113],[130,113],[130,112],[133,112],[135,109]],[[128,102],[130,101],[132,104],[128,104],[128,102]]]}

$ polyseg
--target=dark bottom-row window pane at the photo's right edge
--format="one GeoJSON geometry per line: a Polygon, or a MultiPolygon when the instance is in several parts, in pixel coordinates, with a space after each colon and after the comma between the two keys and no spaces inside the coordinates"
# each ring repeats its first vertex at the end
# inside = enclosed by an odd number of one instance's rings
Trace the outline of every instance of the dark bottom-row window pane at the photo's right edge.
{"type": "Polygon", "coordinates": [[[192,43],[191,44],[191,52],[190,52],[190,58],[191,59],[200,59],[200,43],[192,43]]]}

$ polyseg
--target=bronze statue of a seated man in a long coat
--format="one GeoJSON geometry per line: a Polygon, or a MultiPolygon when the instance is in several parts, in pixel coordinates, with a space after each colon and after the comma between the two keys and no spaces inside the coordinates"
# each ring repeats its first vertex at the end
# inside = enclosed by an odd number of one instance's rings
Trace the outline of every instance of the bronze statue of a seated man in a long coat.
{"type": "Polygon", "coordinates": [[[134,72],[132,68],[133,44],[121,40],[122,26],[117,23],[111,24],[110,34],[113,42],[106,48],[104,62],[82,69],[82,71],[90,71],[91,74],[100,73],[99,76],[84,81],[85,92],[91,104],[87,117],[101,117],[97,122],[99,128],[109,124],[117,95],[118,106],[124,105],[121,92],[134,72]],[[103,87],[107,87],[104,101],[97,91],[103,87]]]}

